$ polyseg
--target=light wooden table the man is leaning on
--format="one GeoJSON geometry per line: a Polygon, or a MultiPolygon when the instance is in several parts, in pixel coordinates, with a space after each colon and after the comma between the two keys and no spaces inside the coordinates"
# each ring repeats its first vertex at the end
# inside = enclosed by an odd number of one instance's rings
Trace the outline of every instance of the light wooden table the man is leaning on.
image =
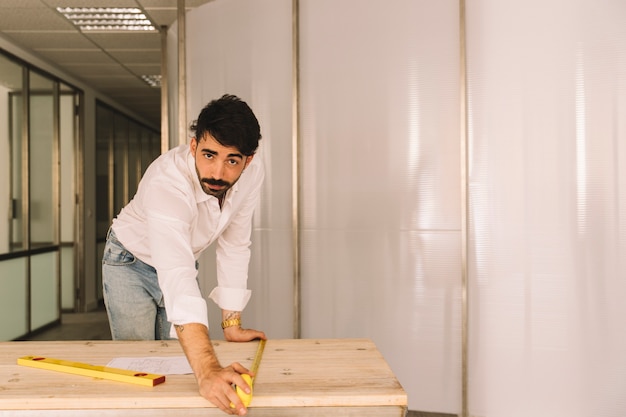
{"type": "MultiPolygon", "coordinates": [[[[214,341],[222,365],[250,367],[258,342],[214,341]]],[[[17,365],[27,355],[106,365],[116,357],[181,356],[177,340],[0,343],[0,416],[224,416],[193,375],[155,387],[17,365]]],[[[141,371],[141,370],[138,370],[141,371]]],[[[268,340],[248,415],[404,416],[407,396],[368,339],[268,340]]]]}

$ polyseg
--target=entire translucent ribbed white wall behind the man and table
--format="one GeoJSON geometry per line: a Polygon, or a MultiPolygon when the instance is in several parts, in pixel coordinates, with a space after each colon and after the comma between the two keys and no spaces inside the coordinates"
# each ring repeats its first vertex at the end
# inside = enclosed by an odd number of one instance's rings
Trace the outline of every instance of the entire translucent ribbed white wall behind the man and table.
{"type": "MultiPolygon", "coordinates": [[[[303,337],[372,338],[410,409],[449,413],[461,412],[458,4],[301,0],[299,32],[303,337]]],[[[469,414],[621,417],[626,3],[466,6],[469,414]]],[[[244,317],[291,337],[291,1],[216,0],[187,23],[189,119],[228,91],[261,121],[244,317]]]]}

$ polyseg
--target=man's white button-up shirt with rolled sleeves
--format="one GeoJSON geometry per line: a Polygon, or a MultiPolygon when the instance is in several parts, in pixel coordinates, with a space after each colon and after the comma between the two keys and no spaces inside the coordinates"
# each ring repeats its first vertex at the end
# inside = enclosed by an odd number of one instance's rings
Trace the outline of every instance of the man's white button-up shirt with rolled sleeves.
{"type": "MultiPolygon", "coordinates": [[[[148,167],[135,197],[113,220],[124,247],[157,270],[171,323],[202,323],[208,328],[195,265],[214,241],[217,287],[209,297],[225,310],[245,308],[251,295],[247,280],[252,214],[263,177],[260,158],[253,158],[220,210],[218,199],[202,190],[189,145],[180,145],[148,167]]],[[[170,335],[176,337],[173,326],[170,335]]]]}

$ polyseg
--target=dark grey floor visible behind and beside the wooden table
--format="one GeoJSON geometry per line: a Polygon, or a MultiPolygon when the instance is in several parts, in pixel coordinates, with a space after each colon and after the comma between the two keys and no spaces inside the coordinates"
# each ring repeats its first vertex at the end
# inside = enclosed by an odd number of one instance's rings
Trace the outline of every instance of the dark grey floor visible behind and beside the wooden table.
{"type": "MultiPolygon", "coordinates": [[[[24,340],[111,340],[111,331],[106,311],[102,308],[90,313],[62,314],[60,325],[39,331],[24,340]]],[[[456,417],[456,415],[409,410],[406,417],[456,417]]]]}

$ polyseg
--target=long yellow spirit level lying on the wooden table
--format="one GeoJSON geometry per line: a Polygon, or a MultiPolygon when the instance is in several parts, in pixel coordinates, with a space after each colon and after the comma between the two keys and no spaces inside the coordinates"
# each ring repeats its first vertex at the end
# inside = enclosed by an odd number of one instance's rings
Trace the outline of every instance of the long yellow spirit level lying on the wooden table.
{"type": "Polygon", "coordinates": [[[17,364],[30,366],[31,368],[65,372],[68,374],[91,376],[94,378],[110,379],[120,382],[130,382],[131,384],[145,385],[148,387],[153,387],[165,382],[164,375],[129,371],[127,369],[109,368],[108,366],[89,365],[86,363],[44,358],[41,356],[23,356],[17,360],[17,364]]]}

